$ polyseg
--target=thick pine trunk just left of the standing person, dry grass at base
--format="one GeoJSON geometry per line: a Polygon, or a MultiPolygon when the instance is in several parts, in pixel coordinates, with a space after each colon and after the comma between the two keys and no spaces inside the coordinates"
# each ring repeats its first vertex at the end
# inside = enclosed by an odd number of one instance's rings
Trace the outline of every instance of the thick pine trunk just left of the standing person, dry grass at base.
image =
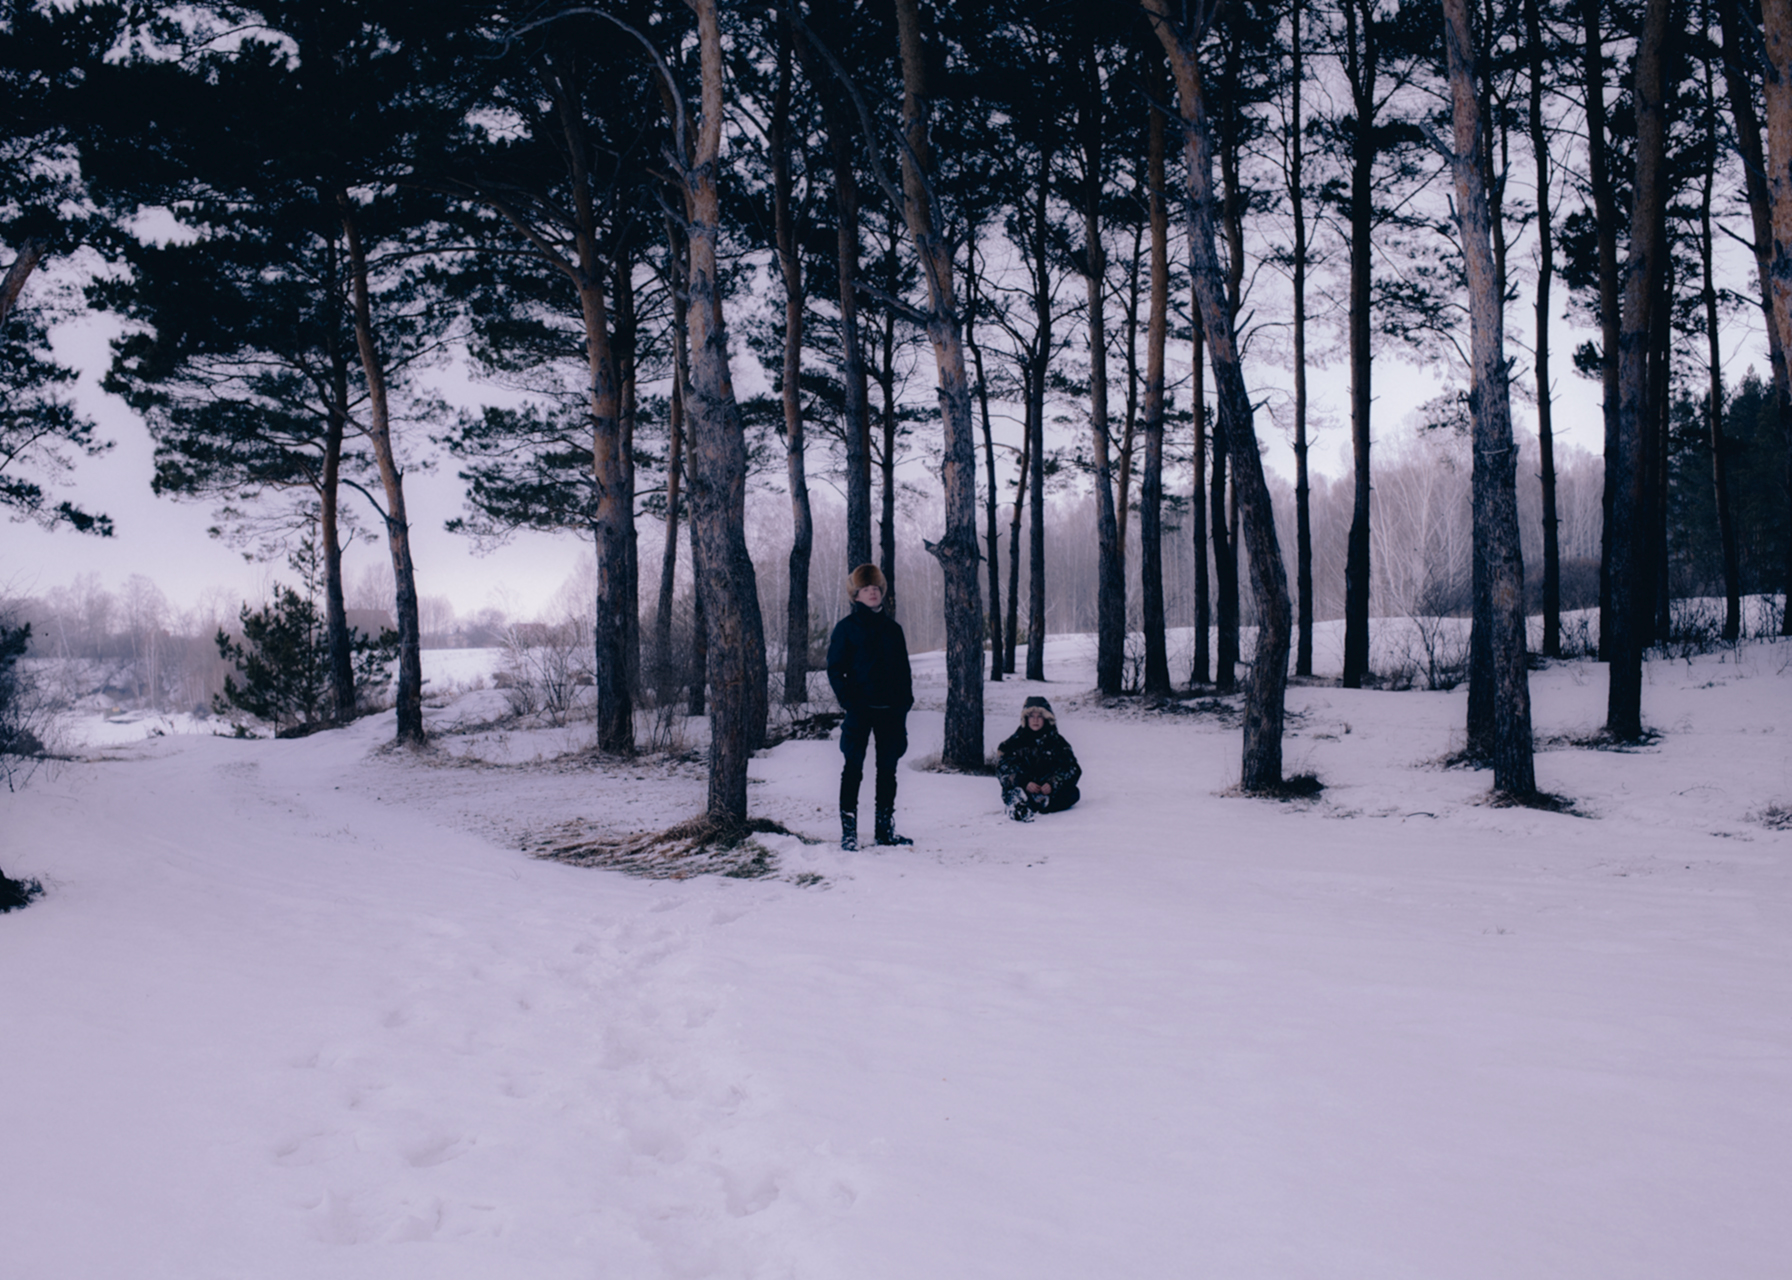
{"type": "Polygon", "coordinates": [[[710,636],[710,817],[747,817],[747,760],[765,737],[765,629],[745,536],[747,443],[728,368],[717,242],[722,32],[715,0],[692,0],[702,59],[702,118],[686,170],[690,222],[692,531],[710,636]]]}

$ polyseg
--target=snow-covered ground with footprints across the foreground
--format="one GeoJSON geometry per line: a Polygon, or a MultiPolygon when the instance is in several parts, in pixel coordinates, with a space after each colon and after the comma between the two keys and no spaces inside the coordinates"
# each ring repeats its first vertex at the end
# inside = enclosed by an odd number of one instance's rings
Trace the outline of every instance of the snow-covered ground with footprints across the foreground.
{"type": "MultiPolygon", "coordinates": [[[[756,880],[521,853],[704,778],[489,688],[425,757],[385,715],[39,773],[0,800],[48,887],[0,916],[0,1276],[1788,1275],[1792,645],[1650,663],[1633,753],[1568,744],[1602,667],[1538,672],[1573,816],[1435,764],[1460,690],[1290,690],[1326,791],[1271,803],[1224,717],[1048,658],[987,740],[1050,696],[1082,805],[905,767],[914,848],[767,837],[756,880]]],[[[754,810],[831,841],[837,769],[785,742],[754,810]]]]}

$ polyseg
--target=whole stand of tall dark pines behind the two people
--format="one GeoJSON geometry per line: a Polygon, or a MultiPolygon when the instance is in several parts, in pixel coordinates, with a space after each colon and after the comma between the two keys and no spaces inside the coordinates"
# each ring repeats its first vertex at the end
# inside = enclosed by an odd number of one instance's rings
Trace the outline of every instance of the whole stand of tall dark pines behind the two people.
{"type": "Polygon", "coordinates": [[[1584,592],[1593,559],[1588,486],[1557,466],[1561,378],[1604,385],[1615,739],[1645,731],[1641,654],[1676,592],[1715,575],[1735,636],[1745,581],[1783,593],[1792,575],[1792,294],[1776,310],[1767,289],[1792,99],[1763,63],[1787,4],[9,0],[0,500],[111,532],[57,488],[106,445],[48,355],[54,303],[27,292],[86,249],[111,264],[86,305],[124,319],[106,387],[149,425],[156,491],[211,504],[242,541],[315,540],[340,719],[346,504],[371,511],[401,742],[425,740],[403,479],[435,446],[468,486],[459,531],[590,538],[606,751],[634,749],[642,654],[670,653],[695,566],[719,821],[745,814],[774,649],[783,697],[806,697],[812,645],[781,638],[814,636],[815,568],[837,550],[880,561],[918,624],[937,617],[948,764],[982,762],[986,670],[1043,676],[1057,601],[1093,610],[1106,694],[1129,629],[1147,694],[1242,681],[1242,785],[1274,792],[1314,622],[1340,608],[1342,683],[1362,685],[1380,593],[1473,617],[1469,755],[1527,796],[1527,602],[1557,654],[1564,584],[1584,592]],[[1720,276],[1729,240],[1751,247],[1747,287],[1720,276]],[[1529,348],[1507,337],[1512,308],[1538,317],[1529,348]],[[1724,326],[1745,308],[1770,376],[1726,387],[1724,326]],[[1552,357],[1563,312],[1600,341],[1552,357]],[[735,394],[731,332],[774,396],[735,394]],[[1306,466],[1306,375],[1328,348],[1349,373],[1348,522],[1306,466]],[[1371,464],[1391,353],[1453,371],[1425,427],[1466,455],[1455,497],[1405,484],[1398,457],[1371,464]],[[444,360],[521,407],[450,411],[426,376],[444,360]],[[1534,506],[1512,394],[1536,405],[1534,506]],[[993,405],[1020,409],[1018,450],[993,405]],[[1292,439],[1292,491],[1263,471],[1263,412],[1292,439]],[[914,525],[919,572],[898,532],[905,457],[943,507],[914,525]],[[790,529],[771,572],[745,507],[767,468],[790,529]],[[824,552],[821,470],[844,491],[824,552]],[[1048,556],[1047,491],[1072,486],[1091,565],[1048,556]],[[643,525],[661,531],[658,592],[643,525]],[[1186,681],[1170,608],[1195,631],[1186,681]]]}

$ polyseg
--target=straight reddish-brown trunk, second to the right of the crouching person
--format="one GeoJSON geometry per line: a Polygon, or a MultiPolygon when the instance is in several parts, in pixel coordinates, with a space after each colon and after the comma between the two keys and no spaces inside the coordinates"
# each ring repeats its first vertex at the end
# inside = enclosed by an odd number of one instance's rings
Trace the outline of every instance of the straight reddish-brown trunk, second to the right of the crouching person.
{"type": "Polygon", "coordinates": [[[1145,185],[1150,203],[1150,321],[1145,326],[1145,479],[1138,504],[1138,570],[1145,692],[1170,692],[1163,617],[1163,348],[1170,316],[1170,215],[1163,201],[1163,111],[1150,108],[1145,185]]]}

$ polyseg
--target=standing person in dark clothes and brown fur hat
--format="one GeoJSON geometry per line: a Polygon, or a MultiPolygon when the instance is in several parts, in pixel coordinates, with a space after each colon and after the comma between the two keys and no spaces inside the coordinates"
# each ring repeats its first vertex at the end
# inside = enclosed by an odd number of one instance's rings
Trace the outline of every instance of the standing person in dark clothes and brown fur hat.
{"type": "Polygon", "coordinates": [[[846,710],[840,724],[840,848],[858,848],[858,783],[866,776],[866,746],[876,739],[878,844],[914,844],[896,834],[896,762],[909,749],[909,708],[914,678],[909,642],[896,618],[885,617],[883,572],[860,565],[848,579],[853,611],[828,640],[828,683],[846,710]]]}

